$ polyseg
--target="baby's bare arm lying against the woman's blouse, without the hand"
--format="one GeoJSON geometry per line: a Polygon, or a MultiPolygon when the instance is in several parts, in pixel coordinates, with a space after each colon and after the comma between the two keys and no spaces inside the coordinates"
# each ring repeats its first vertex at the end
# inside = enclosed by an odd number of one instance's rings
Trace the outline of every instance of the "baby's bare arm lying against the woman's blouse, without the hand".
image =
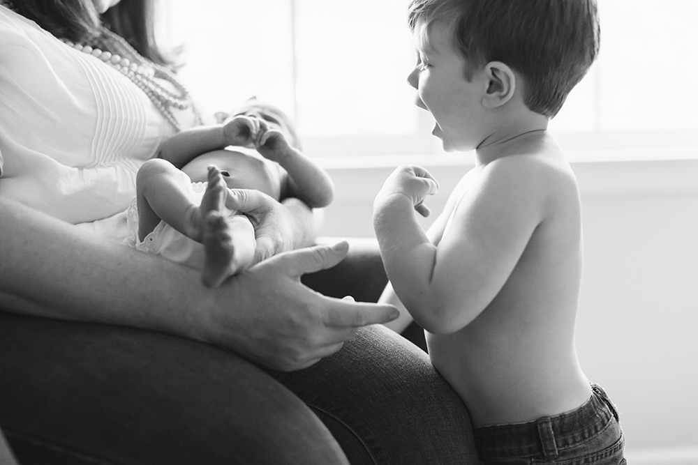
{"type": "Polygon", "coordinates": [[[228,145],[222,124],[198,126],[178,132],[163,142],[158,157],[181,169],[198,155],[228,145]]]}

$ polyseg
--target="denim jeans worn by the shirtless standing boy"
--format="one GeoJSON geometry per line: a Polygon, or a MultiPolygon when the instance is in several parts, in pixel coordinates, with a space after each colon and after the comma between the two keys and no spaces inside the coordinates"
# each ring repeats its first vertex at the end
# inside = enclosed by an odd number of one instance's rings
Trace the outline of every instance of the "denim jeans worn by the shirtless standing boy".
{"type": "Polygon", "coordinates": [[[534,422],[473,430],[484,465],[625,465],[618,410],[600,386],[579,409],[534,422]]]}

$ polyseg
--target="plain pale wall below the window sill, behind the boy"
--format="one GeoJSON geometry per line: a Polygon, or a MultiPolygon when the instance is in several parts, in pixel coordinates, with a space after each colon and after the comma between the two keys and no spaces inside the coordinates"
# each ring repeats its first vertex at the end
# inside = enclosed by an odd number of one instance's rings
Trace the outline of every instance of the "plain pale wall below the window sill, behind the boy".
{"type": "MultiPolygon", "coordinates": [[[[621,411],[629,455],[645,464],[698,464],[698,153],[674,155],[571,157],[584,215],[577,349],[621,411]],[[650,450],[659,459],[639,453],[650,450]]],[[[463,157],[429,166],[441,185],[428,202],[435,213],[470,168],[463,157]]],[[[325,162],[337,197],[322,235],[373,237],[373,197],[403,160],[369,162],[325,162]]]]}

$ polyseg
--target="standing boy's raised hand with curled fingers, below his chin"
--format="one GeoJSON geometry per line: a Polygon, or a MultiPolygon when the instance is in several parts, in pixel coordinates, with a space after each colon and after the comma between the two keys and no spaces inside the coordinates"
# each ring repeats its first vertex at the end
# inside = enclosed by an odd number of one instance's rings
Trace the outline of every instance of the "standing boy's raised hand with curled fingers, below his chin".
{"type": "Polygon", "coordinates": [[[418,166],[402,165],[385,180],[376,200],[394,194],[404,195],[412,200],[417,213],[426,218],[431,211],[424,205],[424,199],[427,195],[436,194],[437,191],[438,183],[429,171],[418,166]]]}

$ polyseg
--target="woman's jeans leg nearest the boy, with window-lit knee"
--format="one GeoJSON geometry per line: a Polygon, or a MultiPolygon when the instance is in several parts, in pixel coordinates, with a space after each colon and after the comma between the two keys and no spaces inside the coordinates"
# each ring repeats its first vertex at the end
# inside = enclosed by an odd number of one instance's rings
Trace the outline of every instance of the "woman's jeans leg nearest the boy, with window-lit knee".
{"type": "Polygon", "coordinates": [[[364,328],[307,369],[269,373],[313,409],[352,464],[477,464],[465,404],[422,349],[385,326],[364,328]]]}

